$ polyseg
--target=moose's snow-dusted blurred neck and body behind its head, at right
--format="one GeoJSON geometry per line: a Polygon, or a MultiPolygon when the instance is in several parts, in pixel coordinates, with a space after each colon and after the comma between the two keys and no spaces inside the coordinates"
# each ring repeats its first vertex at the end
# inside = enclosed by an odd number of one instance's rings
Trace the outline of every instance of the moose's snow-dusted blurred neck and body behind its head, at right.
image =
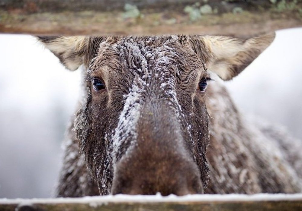
{"type": "Polygon", "coordinates": [[[302,143],[284,129],[239,114],[222,84],[209,89],[211,139],[207,193],[302,190],[302,143]]]}

